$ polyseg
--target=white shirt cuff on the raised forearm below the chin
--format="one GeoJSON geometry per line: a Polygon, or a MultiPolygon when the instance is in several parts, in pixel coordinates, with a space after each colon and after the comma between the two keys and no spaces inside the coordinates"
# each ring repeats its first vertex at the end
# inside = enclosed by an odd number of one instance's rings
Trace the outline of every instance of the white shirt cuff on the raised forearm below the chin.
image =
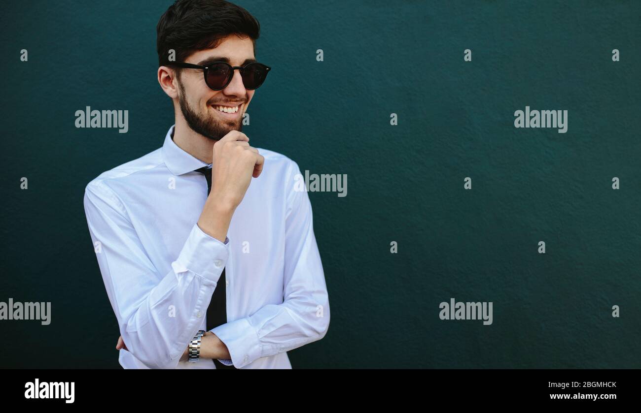
{"type": "Polygon", "coordinates": [[[229,239],[225,238],[225,243],[222,243],[219,239],[205,234],[196,223],[178,259],[171,263],[171,266],[176,273],[189,270],[208,280],[218,282],[228,257],[229,239]]]}

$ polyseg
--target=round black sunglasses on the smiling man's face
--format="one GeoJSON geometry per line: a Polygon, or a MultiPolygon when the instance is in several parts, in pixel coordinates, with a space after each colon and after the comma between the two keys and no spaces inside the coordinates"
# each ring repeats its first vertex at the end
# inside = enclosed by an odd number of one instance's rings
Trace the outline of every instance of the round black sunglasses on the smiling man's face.
{"type": "Polygon", "coordinates": [[[234,77],[234,70],[240,70],[242,83],[248,90],[257,89],[265,81],[267,73],[272,68],[262,63],[248,63],[245,66],[232,66],[226,61],[214,61],[206,66],[193,65],[192,63],[182,63],[172,61],[168,65],[183,67],[185,69],[203,70],[204,83],[212,90],[222,90],[229,85],[231,78],[234,77]]]}

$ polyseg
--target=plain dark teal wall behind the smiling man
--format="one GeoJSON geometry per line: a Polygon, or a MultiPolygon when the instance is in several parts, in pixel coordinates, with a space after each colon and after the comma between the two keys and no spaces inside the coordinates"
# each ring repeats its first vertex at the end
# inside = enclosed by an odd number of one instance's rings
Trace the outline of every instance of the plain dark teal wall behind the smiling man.
{"type": "MultiPolygon", "coordinates": [[[[174,122],[171,3],[3,4],[0,301],[51,301],[52,322],[0,320],[2,368],[119,368],[83,191],[174,122]],[[85,106],[128,109],[129,132],[76,129],[85,106]]],[[[332,318],[294,368],[641,368],[638,1],[237,4],[273,68],[243,131],[348,177],[310,193],[332,318]],[[567,109],[567,133],[515,129],[525,106],[567,109]],[[494,323],[439,320],[451,297],[494,323]]]]}

